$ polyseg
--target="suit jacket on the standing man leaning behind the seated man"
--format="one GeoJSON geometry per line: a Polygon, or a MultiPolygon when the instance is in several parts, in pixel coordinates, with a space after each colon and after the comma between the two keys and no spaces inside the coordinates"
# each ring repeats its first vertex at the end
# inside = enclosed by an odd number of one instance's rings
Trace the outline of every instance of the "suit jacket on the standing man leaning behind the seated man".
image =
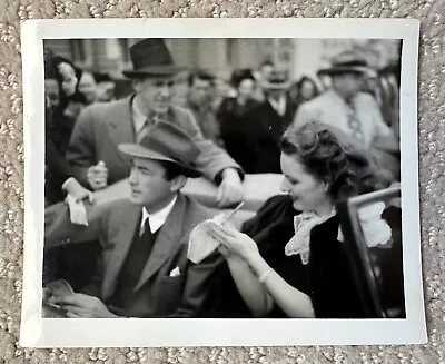
{"type": "MultiPolygon", "coordinates": [[[[122,142],[135,142],[136,136],[131,116],[132,96],[106,104],[87,107],[79,116],[72,130],[67,159],[72,165],[75,177],[88,185],[88,168],[103,160],[108,167],[108,185],[128,177],[130,158],[119,151],[122,142]]],[[[200,155],[196,160],[198,169],[216,183],[225,168],[236,168],[238,164],[212,141],[205,139],[195,117],[185,108],[171,106],[167,121],[181,127],[196,141],[200,155]]]]}

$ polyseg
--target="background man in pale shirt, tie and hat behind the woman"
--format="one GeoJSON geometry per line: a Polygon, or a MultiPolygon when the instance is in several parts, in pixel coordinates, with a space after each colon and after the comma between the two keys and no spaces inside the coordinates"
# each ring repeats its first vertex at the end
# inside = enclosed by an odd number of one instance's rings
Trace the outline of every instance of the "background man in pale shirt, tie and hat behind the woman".
{"type": "Polygon", "coordinates": [[[364,78],[375,73],[365,59],[352,51],[336,56],[332,67],[319,71],[320,76],[330,76],[332,88],[303,104],[295,116],[294,125],[319,121],[335,126],[354,136],[369,148],[380,168],[398,178],[399,164],[395,157],[398,141],[392,129],[385,124],[376,100],[369,94],[362,92],[364,78]]]}

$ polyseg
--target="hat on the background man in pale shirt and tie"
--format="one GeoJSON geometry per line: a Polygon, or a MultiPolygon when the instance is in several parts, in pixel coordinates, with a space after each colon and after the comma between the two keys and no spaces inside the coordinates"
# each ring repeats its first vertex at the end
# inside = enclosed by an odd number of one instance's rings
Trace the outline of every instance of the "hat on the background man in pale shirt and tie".
{"type": "Polygon", "coordinates": [[[365,58],[347,50],[338,53],[330,60],[330,67],[318,71],[318,75],[334,76],[339,73],[360,73],[375,76],[376,72],[368,66],[365,58]]]}

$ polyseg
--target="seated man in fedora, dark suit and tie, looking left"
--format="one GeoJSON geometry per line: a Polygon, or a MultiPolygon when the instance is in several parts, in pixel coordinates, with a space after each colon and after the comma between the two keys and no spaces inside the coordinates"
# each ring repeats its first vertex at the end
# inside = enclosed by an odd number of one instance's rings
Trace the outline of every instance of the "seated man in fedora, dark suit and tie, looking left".
{"type": "Polygon", "coordinates": [[[130,199],[89,210],[88,226],[71,224],[67,207],[46,211],[46,247],[99,239],[102,248],[96,286],[48,301],[68,317],[202,314],[221,257],[187,259],[190,230],[211,217],[180,193],[187,177],[201,175],[197,145],[176,125],[158,121],[139,144],[121,144],[119,151],[131,158],[130,199]]]}

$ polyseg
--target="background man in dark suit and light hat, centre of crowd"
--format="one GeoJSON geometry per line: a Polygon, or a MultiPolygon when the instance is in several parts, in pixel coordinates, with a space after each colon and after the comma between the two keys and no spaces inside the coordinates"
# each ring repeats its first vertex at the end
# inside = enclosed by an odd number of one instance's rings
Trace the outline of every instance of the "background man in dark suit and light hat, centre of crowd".
{"type": "Polygon", "coordinates": [[[263,81],[266,99],[246,115],[245,153],[249,156],[249,161],[243,166],[246,173],[281,173],[279,140],[297,108],[286,96],[289,86],[287,72],[279,69],[273,70],[263,81]]]}

